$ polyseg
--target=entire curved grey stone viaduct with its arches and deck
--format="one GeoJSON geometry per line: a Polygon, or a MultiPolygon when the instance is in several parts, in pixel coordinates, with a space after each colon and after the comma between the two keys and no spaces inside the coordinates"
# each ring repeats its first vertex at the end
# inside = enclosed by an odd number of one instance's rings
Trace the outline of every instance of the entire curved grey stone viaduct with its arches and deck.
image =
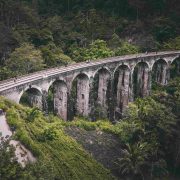
{"type": "Polygon", "coordinates": [[[64,120],[74,115],[118,119],[129,102],[148,96],[154,80],[167,84],[180,73],[180,51],[126,55],[47,69],[0,82],[0,95],[48,111],[51,92],[54,113],[64,120]]]}

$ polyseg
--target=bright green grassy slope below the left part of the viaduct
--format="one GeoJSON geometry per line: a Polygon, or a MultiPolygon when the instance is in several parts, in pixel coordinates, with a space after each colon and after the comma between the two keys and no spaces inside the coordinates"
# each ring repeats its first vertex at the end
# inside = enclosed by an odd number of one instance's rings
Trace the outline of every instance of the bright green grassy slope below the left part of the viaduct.
{"type": "Polygon", "coordinates": [[[114,179],[110,171],[64,132],[64,127],[73,125],[89,130],[106,129],[110,126],[109,122],[91,123],[82,119],[64,122],[2,97],[0,108],[6,111],[7,121],[15,129],[14,138],[20,140],[36,156],[38,161],[33,165],[35,168],[30,169],[37,179],[114,179]]]}

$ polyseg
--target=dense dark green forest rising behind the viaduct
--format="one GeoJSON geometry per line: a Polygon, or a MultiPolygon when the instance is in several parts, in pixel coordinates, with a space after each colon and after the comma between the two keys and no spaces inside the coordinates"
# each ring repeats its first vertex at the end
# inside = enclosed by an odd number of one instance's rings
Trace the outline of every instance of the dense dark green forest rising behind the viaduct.
{"type": "Polygon", "coordinates": [[[24,62],[33,64],[26,71],[30,73],[73,61],[180,49],[179,4],[177,0],[0,0],[0,79],[24,74],[20,70],[24,62]]]}

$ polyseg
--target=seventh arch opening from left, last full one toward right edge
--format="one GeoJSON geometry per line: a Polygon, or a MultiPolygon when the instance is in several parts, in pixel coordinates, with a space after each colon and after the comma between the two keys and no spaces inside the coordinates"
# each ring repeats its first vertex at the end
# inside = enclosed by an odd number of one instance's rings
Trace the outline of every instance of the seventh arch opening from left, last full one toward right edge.
{"type": "Polygon", "coordinates": [[[152,80],[159,84],[167,83],[168,63],[164,59],[155,61],[152,67],[152,80]]]}

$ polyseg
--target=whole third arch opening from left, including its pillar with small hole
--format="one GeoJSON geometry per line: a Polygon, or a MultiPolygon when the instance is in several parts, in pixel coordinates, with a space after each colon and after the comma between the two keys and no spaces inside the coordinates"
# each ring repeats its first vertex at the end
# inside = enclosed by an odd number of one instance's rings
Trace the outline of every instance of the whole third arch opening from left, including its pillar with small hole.
{"type": "Polygon", "coordinates": [[[70,92],[70,115],[73,119],[75,115],[89,115],[89,87],[90,79],[87,74],[79,73],[72,81],[70,92]]]}

